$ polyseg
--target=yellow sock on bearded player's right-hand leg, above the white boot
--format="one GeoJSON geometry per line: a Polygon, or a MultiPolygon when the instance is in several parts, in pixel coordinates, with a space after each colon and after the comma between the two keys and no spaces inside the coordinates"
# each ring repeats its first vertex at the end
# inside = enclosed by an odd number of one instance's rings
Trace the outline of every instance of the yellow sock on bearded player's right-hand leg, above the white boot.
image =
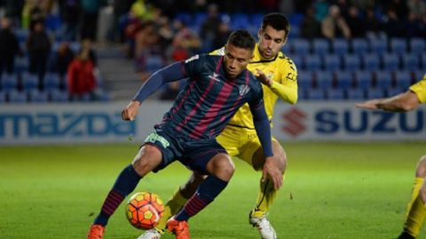
{"type": "Polygon", "coordinates": [[[262,218],[269,211],[273,201],[275,201],[275,197],[277,197],[277,190],[273,188],[272,180],[266,179],[264,182],[261,181],[256,207],[251,211],[251,217],[262,218]]]}

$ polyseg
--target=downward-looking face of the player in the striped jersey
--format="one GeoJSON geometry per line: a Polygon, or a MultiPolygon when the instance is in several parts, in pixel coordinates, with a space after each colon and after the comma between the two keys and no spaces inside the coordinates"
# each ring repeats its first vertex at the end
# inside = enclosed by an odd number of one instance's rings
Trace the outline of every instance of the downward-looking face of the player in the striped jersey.
{"type": "Polygon", "coordinates": [[[248,62],[253,57],[253,52],[226,44],[225,47],[225,69],[227,76],[235,78],[240,75],[241,71],[247,68],[248,62]]]}

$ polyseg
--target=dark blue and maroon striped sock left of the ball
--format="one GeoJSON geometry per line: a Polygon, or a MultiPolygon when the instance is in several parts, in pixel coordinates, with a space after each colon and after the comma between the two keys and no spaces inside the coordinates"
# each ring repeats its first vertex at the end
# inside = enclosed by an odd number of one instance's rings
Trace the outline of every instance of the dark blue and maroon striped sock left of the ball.
{"type": "Polygon", "coordinates": [[[106,196],[102,209],[95,219],[94,224],[105,227],[109,217],[113,215],[114,211],[122,203],[122,200],[135,189],[140,179],[142,179],[142,177],[138,175],[138,172],[133,169],[131,164],[124,168],[115,180],[113,188],[106,196]]]}

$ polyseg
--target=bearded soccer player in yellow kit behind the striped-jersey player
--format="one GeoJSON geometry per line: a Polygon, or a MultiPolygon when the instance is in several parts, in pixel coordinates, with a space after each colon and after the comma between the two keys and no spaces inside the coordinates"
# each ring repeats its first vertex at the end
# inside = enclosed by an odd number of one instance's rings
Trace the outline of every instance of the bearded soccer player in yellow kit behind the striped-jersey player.
{"type": "MultiPolygon", "coordinates": [[[[248,63],[248,69],[258,76],[263,84],[264,107],[270,120],[272,120],[273,108],[278,98],[290,104],[296,104],[297,101],[296,66],[292,60],[280,52],[282,46],[286,44],[289,30],[288,19],[284,15],[280,13],[265,15],[261,28],[258,30],[259,40],[254,57],[248,63]]],[[[224,54],[225,47],[211,54],[224,54]]],[[[282,185],[287,165],[284,149],[276,139],[272,139],[274,156],[271,161],[264,162],[262,148],[247,104],[237,111],[225,130],[217,137],[217,141],[225,147],[229,155],[244,160],[256,171],[263,171],[256,206],[249,213],[249,223],[259,229],[262,238],[277,238],[275,230],[266,218],[266,212],[269,211],[282,185]],[[265,171],[268,168],[275,171],[275,176],[266,177],[265,171]]],[[[185,204],[202,180],[202,175],[193,172],[186,184],[178,188],[166,203],[164,216],[159,225],[146,231],[138,239],[159,239],[164,232],[167,219],[185,204]]]]}

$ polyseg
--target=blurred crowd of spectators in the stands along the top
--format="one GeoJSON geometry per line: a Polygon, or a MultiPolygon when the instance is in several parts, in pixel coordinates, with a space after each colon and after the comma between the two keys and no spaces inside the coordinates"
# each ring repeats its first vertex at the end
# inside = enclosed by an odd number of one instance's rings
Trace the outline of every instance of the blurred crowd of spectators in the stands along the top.
{"type": "MultiPolygon", "coordinates": [[[[89,71],[96,68],[96,57],[84,49],[91,47],[73,52],[67,43],[106,41],[125,44],[145,80],[172,61],[223,46],[234,28],[256,35],[265,12],[288,15],[290,37],[426,37],[424,0],[0,0],[0,70],[11,73],[14,57],[28,54],[28,69],[40,80],[47,68],[68,74],[73,60],[90,62],[79,65],[89,71]],[[11,28],[28,29],[25,44],[11,28]],[[50,63],[55,43],[65,45],[54,50],[59,57],[50,63]]],[[[92,90],[94,84],[85,87],[92,90]]],[[[75,85],[68,82],[68,91],[75,85]]],[[[179,84],[170,84],[164,97],[174,98],[178,90],[179,84]]]]}

